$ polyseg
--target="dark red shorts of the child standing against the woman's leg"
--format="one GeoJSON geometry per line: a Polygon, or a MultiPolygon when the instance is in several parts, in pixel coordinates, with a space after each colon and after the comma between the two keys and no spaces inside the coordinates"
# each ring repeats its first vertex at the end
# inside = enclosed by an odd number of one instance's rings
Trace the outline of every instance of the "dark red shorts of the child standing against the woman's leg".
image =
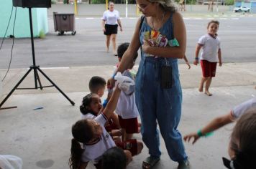
{"type": "Polygon", "coordinates": [[[122,128],[124,128],[127,134],[138,133],[139,125],[137,117],[132,119],[123,119],[118,115],[119,123],[122,128]]]}

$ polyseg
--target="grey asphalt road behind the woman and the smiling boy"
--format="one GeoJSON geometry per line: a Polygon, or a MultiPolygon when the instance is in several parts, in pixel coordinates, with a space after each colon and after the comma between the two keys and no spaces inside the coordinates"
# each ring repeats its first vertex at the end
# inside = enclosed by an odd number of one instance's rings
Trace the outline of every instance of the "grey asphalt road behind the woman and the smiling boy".
{"type": "MultiPolygon", "coordinates": [[[[223,61],[256,62],[256,22],[251,16],[184,16],[187,29],[186,55],[192,62],[196,42],[201,35],[206,34],[206,25],[210,19],[220,21],[219,37],[223,61]]],[[[119,32],[117,43],[129,42],[134,32],[137,18],[122,19],[124,32],[119,32]]],[[[48,20],[49,33],[45,39],[35,39],[36,63],[40,67],[84,67],[96,65],[114,65],[116,57],[111,52],[105,52],[105,37],[101,32],[101,19],[78,17],[76,19],[77,34],[58,36],[54,32],[52,17],[48,20]]],[[[6,69],[9,64],[12,49],[12,39],[6,39],[0,51],[0,69],[6,69]]],[[[140,57],[137,63],[140,62],[140,57]]],[[[180,60],[183,62],[183,60],[180,60]]],[[[29,38],[15,39],[11,68],[26,68],[32,64],[32,50],[29,38]]]]}

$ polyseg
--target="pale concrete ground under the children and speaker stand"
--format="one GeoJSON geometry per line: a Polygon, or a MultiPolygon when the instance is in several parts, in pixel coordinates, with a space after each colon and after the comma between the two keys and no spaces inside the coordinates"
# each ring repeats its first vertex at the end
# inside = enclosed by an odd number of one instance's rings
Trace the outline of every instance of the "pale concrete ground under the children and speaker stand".
{"type": "MultiPolygon", "coordinates": [[[[135,67],[136,69],[137,67],[135,67]]],[[[229,112],[234,106],[255,97],[255,63],[224,64],[218,67],[208,97],[198,92],[201,77],[200,67],[187,69],[180,64],[180,81],[183,87],[183,113],[178,129],[182,135],[203,127],[212,118],[229,112]]],[[[42,69],[76,105],[58,92],[55,87],[43,90],[15,90],[3,107],[17,109],[0,110],[0,154],[17,155],[23,160],[23,168],[68,168],[70,155],[71,125],[80,119],[79,105],[88,93],[88,79],[93,75],[104,78],[111,76],[113,67],[70,67],[42,69]],[[33,110],[43,107],[40,110],[33,110]]],[[[22,77],[27,69],[11,69],[4,81],[4,95],[22,77]]],[[[1,69],[1,74],[4,70],[1,69]]],[[[33,74],[24,79],[21,87],[34,87],[33,74]]],[[[43,79],[42,84],[49,84],[43,79]]],[[[4,97],[2,97],[4,99],[4,97]]],[[[229,135],[233,125],[216,131],[213,136],[202,138],[196,143],[184,143],[192,168],[223,168],[221,157],[227,155],[229,135]]],[[[135,135],[141,140],[141,135],[135,135]]],[[[176,168],[168,157],[165,143],[161,140],[160,163],[155,168],[176,168]]],[[[134,157],[129,168],[141,168],[147,157],[147,148],[134,157]]],[[[88,168],[93,168],[89,165],[88,168]]]]}

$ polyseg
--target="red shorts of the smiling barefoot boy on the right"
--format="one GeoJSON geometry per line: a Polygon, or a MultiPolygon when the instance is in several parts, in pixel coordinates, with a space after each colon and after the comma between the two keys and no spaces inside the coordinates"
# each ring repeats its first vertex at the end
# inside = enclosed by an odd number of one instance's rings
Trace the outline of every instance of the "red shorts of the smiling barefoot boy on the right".
{"type": "Polygon", "coordinates": [[[200,63],[203,72],[203,77],[215,77],[217,62],[201,60],[200,63]]]}

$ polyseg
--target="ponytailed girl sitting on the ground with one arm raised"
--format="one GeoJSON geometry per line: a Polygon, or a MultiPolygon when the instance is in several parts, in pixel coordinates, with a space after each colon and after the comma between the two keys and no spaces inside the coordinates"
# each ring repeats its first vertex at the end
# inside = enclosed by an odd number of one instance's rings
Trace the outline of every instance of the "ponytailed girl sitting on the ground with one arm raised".
{"type": "MultiPolygon", "coordinates": [[[[116,146],[104,125],[114,112],[120,92],[119,87],[116,87],[106,108],[96,118],[78,120],[72,126],[70,168],[86,168],[89,161],[93,161],[96,168],[99,168],[101,155],[109,148],[116,146]],[[82,148],[81,145],[83,145],[82,148]]],[[[141,152],[143,145],[139,141],[133,141],[123,143],[120,147],[126,153],[127,163],[129,163],[132,160],[132,155],[141,152]]]]}

